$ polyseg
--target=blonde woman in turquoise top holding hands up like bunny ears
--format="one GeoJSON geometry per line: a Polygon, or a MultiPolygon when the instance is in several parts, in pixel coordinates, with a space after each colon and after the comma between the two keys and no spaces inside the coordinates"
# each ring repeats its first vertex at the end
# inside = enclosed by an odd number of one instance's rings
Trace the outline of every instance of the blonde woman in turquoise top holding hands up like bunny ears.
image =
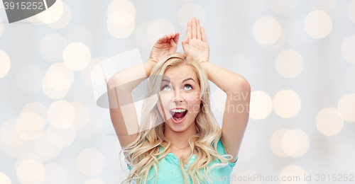
{"type": "Polygon", "coordinates": [[[229,183],[238,159],[249,120],[249,83],[209,62],[198,19],[187,23],[184,54],[176,52],[179,35],[160,38],[146,62],[108,82],[111,120],[129,166],[129,183],[229,183]],[[131,91],[146,76],[150,89],[138,125],[131,91]],[[226,93],[222,129],[212,114],[208,80],[226,93]]]}

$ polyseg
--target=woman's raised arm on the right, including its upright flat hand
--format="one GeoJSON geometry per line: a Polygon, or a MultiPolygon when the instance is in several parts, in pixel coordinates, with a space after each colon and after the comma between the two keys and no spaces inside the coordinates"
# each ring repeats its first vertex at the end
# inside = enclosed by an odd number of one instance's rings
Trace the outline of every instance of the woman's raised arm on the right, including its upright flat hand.
{"type": "Polygon", "coordinates": [[[195,17],[187,23],[186,39],[182,42],[185,54],[195,54],[207,72],[208,79],[226,93],[221,142],[234,163],[249,120],[251,87],[243,76],[209,62],[209,46],[204,28],[195,17]]]}

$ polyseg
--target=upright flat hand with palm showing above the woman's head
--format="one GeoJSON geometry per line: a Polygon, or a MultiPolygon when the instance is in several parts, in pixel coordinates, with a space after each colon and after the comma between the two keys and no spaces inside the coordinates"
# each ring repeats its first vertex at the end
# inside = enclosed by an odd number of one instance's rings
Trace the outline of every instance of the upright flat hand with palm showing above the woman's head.
{"type": "Polygon", "coordinates": [[[209,45],[200,20],[192,17],[187,23],[186,38],[182,41],[185,54],[194,54],[200,63],[209,62],[209,45]]]}

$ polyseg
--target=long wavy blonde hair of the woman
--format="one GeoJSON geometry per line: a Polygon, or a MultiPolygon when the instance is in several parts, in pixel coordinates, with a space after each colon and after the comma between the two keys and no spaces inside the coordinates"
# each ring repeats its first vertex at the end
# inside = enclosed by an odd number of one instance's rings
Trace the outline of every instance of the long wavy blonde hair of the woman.
{"type": "MultiPolygon", "coordinates": [[[[200,94],[202,94],[200,112],[197,114],[195,121],[197,134],[190,137],[190,149],[179,158],[180,169],[184,176],[185,183],[187,183],[187,175],[185,173],[184,163],[189,161],[192,154],[195,154],[197,159],[187,169],[187,173],[190,175],[190,178],[192,178],[194,184],[204,182],[204,178],[206,178],[208,174],[211,174],[212,168],[226,166],[231,159],[231,155],[224,155],[227,156],[227,158],[224,158],[224,156],[221,156],[217,152],[217,143],[221,137],[222,130],[210,108],[209,83],[206,71],[204,71],[202,65],[195,57],[175,52],[160,59],[151,71],[149,76],[151,88],[150,93],[146,95],[146,100],[143,103],[141,126],[139,127],[140,131],[135,141],[121,149],[121,151],[126,152],[124,159],[131,167],[128,178],[122,183],[131,183],[131,181],[134,180],[135,183],[140,184],[143,183],[143,180],[151,179],[148,178],[148,173],[152,167],[155,168],[154,176],[157,176],[159,169],[158,162],[160,159],[167,156],[171,150],[171,142],[164,136],[165,124],[160,123],[160,125],[157,125],[157,122],[164,122],[158,107],[155,105],[158,101],[158,97],[148,97],[159,93],[161,76],[163,76],[165,70],[170,67],[177,67],[181,64],[186,64],[196,72],[201,88],[200,94]],[[159,146],[163,146],[164,150],[159,152],[159,146]],[[162,155],[159,156],[160,154],[162,155]],[[130,161],[127,158],[129,158],[130,161]],[[222,163],[215,163],[209,168],[209,163],[214,161],[214,159],[219,159],[222,163]],[[202,170],[203,174],[197,172],[202,170]]],[[[155,183],[157,179],[158,177],[155,178],[155,183]]],[[[210,180],[207,181],[210,183],[210,180]]]]}

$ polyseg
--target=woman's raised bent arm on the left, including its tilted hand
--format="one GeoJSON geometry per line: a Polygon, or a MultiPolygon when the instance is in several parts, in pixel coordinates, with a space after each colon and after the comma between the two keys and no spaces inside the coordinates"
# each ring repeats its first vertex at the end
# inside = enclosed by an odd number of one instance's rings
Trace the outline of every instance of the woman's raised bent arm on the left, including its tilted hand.
{"type": "Polygon", "coordinates": [[[111,121],[121,147],[133,142],[139,130],[131,92],[151,74],[151,70],[159,59],[176,52],[178,39],[179,33],[170,33],[170,35],[159,38],[146,62],[119,71],[107,82],[111,121]]]}

